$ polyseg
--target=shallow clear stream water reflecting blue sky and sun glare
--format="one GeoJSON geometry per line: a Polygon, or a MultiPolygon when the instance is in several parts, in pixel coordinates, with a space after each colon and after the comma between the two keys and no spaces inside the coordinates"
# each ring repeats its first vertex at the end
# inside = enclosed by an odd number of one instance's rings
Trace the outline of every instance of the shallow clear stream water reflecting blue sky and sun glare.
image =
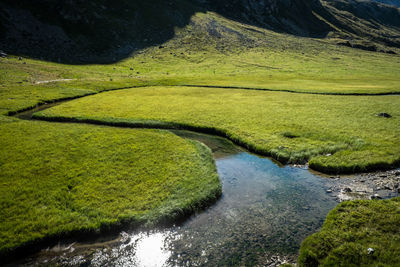
{"type": "Polygon", "coordinates": [[[92,266],[235,266],[294,262],[301,241],[321,227],[337,204],[332,180],[304,168],[279,166],[229,141],[175,132],[212,148],[221,199],[180,226],[122,232],[117,239],[64,244],[24,264],[92,266]]]}

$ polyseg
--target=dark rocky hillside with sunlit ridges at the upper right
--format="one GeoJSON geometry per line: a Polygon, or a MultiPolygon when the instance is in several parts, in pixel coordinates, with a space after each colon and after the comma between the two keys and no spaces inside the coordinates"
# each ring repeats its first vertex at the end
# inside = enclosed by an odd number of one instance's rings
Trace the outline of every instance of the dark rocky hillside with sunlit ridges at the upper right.
{"type": "Polygon", "coordinates": [[[398,0],[194,0],[233,19],[275,31],[310,37],[400,47],[398,0]],[[387,4],[392,5],[387,5],[387,4]]]}

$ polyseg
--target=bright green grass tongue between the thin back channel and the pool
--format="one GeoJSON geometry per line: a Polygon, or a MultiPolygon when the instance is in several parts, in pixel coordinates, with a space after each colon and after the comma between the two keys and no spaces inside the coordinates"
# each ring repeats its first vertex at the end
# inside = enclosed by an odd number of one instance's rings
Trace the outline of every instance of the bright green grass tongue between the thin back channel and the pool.
{"type": "Polygon", "coordinates": [[[146,87],[73,100],[34,117],[215,132],[282,162],[309,160],[313,169],[344,173],[399,164],[399,107],[399,96],[146,87]]]}

